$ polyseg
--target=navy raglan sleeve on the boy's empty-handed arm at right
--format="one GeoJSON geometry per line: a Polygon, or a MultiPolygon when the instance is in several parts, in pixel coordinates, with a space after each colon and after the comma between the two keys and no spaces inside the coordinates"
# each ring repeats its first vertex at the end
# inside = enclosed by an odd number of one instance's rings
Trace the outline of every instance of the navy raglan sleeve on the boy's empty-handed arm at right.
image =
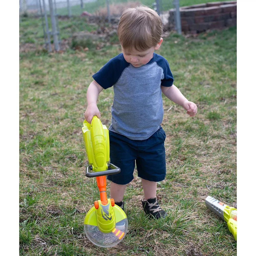
{"type": "Polygon", "coordinates": [[[159,67],[163,69],[163,78],[161,79],[161,85],[170,87],[173,85],[173,74],[170,70],[168,61],[161,55],[154,53],[153,61],[157,63],[159,67]]]}

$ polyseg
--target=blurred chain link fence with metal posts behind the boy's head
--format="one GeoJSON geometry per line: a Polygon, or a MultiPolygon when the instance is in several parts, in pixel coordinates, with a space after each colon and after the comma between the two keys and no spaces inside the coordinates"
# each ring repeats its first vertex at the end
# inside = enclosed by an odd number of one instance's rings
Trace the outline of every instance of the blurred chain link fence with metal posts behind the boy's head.
{"type": "Polygon", "coordinates": [[[38,17],[42,20],[44,40],[51,51],[51,36],[54,38],[55,50],[59,50],[60,38],[58,17],[87,16],[89,20],[99,19],[101,22],[117,24],[121,12],[126,7],[145,4],[159,14],[165,30],[177,30],[181,34],[179,11],[170,17],[170,9],[179,10],[179,0],[19,0],[21,17],[38,17]],[[50,22],[48,20],[50,17],[50,22]],[[172,25],[170,25],[172,23],[172,25]],[[51,27],[51,31],[49,28],[51,27]]]}

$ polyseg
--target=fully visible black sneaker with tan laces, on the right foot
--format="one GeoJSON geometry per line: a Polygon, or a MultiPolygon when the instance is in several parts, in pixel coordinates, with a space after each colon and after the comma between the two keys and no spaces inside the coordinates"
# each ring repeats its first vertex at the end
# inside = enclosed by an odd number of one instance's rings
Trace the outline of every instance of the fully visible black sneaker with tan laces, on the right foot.
{"type": "Polygon", "coordinates": [[[158,205],[156,196],[147,200],[143,197],[141,203],[146,214],[150,214],[151,217],[159,219],[167,216],[166,212],[158,205]]]}

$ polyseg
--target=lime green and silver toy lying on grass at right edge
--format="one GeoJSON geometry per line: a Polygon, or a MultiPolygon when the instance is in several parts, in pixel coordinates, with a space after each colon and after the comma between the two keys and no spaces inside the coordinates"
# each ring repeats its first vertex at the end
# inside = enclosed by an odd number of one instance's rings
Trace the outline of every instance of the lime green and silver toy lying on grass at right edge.
{"type": "Polygon", "coordinates": [[[232,233],[234,239],[237,240],[237,209],[225,205],[210,196],[206,197],[205,204],[227,223],[229,231],[232,233]]]}

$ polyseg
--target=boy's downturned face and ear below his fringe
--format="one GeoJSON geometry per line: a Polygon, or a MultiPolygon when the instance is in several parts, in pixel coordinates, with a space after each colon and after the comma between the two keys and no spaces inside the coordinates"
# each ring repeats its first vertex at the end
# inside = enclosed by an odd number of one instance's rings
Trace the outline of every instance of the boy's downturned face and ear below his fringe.
{"type": "Polygon", "coordinates": [[[163,39],[161,38],[160,42],[156,45],[156,47],[153,46],[145,51],[137,51],[133,49],[132,52],[127,53],[122,47],[124,59],[136,68],[141,67],[142,65],[147,64],[152,59],[154,50],[157,50],[160,47],[162,41],[163,39]]]}

